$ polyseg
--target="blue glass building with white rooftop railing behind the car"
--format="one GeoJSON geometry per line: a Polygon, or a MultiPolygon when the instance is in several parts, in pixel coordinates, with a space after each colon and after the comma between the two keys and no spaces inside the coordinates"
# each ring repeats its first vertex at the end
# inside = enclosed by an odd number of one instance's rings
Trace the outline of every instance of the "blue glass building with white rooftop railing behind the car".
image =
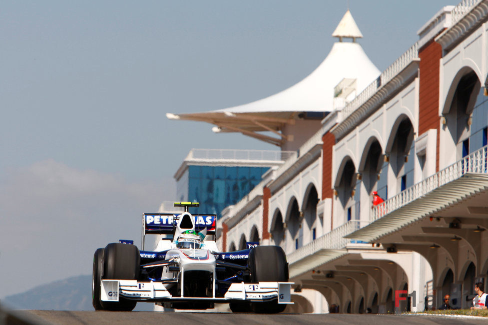
{"type": "Polygon", "coordinates": [[[197,201],[191,213],[220,212],[237,203],[272,166],[294,151],[192,149],[175,174],[177,200],[197,201]]]}

